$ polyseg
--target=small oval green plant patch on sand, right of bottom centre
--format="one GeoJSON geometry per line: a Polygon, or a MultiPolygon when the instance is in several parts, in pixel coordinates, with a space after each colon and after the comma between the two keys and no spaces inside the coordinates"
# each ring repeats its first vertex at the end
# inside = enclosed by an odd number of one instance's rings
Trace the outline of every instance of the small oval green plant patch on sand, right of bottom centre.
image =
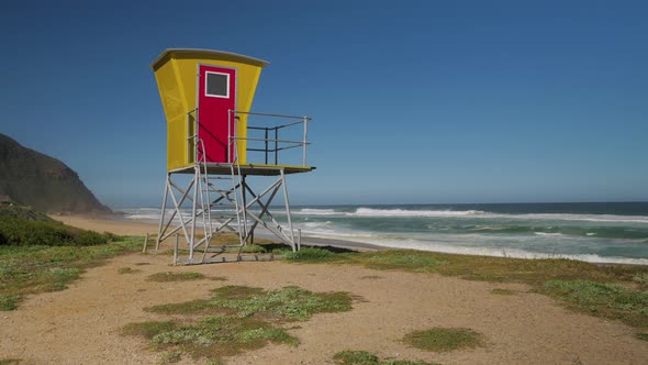
{"type": "Polygon", "coordinates": [[[482,335],[470,329],[434,328],[407,333],[405,343],[416,349],[446,352],[458,349],[473,349],[482,344],[482,335]]]}

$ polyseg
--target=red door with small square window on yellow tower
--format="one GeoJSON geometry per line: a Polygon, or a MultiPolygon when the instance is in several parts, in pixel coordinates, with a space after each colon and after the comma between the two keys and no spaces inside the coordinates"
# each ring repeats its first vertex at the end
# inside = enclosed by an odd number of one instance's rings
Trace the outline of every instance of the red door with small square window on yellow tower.
{"type": "MultiPolygon", "coordinates": [[[[199,66],[198,79],[198,158],[204,154],[208,163],[230,163],[227,145],[234,133],[234,118],[230,110],[236,109],[236,69],[210,65],[199,66]]],[[[231,148],[234,159],[234,148],[231,148]]]]}

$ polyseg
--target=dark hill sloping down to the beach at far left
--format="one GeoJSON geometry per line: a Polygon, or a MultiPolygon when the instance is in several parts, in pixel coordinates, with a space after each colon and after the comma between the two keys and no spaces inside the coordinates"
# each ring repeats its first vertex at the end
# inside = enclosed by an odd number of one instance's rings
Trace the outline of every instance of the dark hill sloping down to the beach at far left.
{"type": "Polygon", "coordinates": [[[60,161],[0,133],[0,200],[45,212],[110,212],[60,161]]]}

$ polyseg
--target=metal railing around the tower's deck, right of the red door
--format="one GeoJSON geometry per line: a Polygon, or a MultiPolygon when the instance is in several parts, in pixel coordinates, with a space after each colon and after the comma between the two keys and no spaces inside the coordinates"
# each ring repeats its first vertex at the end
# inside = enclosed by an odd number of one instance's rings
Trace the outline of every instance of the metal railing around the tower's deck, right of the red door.
{"type": "MultiPolygon", "coordinates": [[[[249,119],[249,118],[248,118],[249,119]]],[[[301,166],[306,165],[308,158],[308,146],[309,146],[309,122],[312,119],[310,117],[298,117],[298,115],[286,115],[286,114],[271,114],[271,113],[256,113],[256,112],[248,112],[248,111],[237,111],[237,110],[230,110],[230,123],[228,123],[228,135],[230,135],[230,147],[227,148],[227,161],[233,163],[234,158],[234,151],[233,148],[237,148],[239,141],[246,141],[247,152],[260,152],[264,153],[264,163],[266,165],[279,165],[279,152],[288,151],[293,148],[302,148],[302,163],[301,166]],[[254,115],[254,117],[264,117],[264,118],[273,118],[277,120],[289,120],[289,122],[284,122],[283,124],[272,125],[272,126],[250,126],[247,125],[247,131],[245,136],[236,135],[236,131],[238,131],[238,122],[241,117],[237,114],[245,114],[246,117],[254,115]],[[295,135],[295,130],[300,129],[301,126],[301,140],[291,140],[290,137],[287,140],[282,140],[280,137],[280,132],[286,133],[289,132],[292,136],[295,135]],[[234,129],[234,131],[232,131],[234,129]],[[262,135],[259,137],[249,136],[250,131],[260,131],[262,135]],[[250,147],[249,145],[253,144],[250,147]]],[[[249,121],[248,121],[249,123],[249,121]]],[[[284,134],[286,135],[286,134],[284,134]]],[[[249,161],[247,162],[249,163],[249,161]]]]}

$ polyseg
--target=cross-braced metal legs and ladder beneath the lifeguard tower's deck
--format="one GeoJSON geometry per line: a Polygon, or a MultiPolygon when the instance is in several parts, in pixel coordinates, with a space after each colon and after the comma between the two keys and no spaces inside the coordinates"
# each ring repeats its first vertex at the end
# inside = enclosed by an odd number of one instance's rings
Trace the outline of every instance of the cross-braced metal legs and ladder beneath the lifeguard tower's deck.
{"type": "Polygon", "coordinates": [[[167,174],[156,250],[159,250],[160,242],[174,234],[181,233],[187,242],[188,257],[186,259],[178,258],[179,262],[191,264],[213,262],[213,256],[206,257],[208,252],[222,253],[224,251],[224,247],[210,247],[214,234],[234,232],[238,235],[239,247],[242,247],[253,242],[254,232],[258,225],[276,235],[292,251],[299,250],[299,241],[295,241],[292,226],[288,186],[283,170],[280,170],[277,180],[260,193],[256,193],[247,184],[245,175],[209,176],[206,170],[203,172],[200,166],[197,166],[193,177],[186,188],[182,188],[174,179],[175,175],[177,174],[167,174]],[[230,182],[231,187],[224,188],[220,181],[230,182]],[[270,212],[270,206],[280,190],[283,193],[288,228],[283,228],[270,212]],[[212,199],[212,197],[215,198],[212,199]],[[189,206],[189,203],[191,208],[185,208],[183,211],[183,204],[189,206]],[[167,206],[171,210],[170,213],[167,212],[167,206]],[[231,209],[219,209],[221,206],[227,206],[231,209]],[[232,208],[234,209],[232,210],[232,208]],[[215,212],[221,215],[216,215],[215,212]],[[234,222],[236,222],[236,228],[233,226],[234,222]],[[202,237],[199,237],[199,231],[202,231],[202,237]],[[194,252],[199,248],[202,248],[200,259],[194,258],[194,252]]]}

